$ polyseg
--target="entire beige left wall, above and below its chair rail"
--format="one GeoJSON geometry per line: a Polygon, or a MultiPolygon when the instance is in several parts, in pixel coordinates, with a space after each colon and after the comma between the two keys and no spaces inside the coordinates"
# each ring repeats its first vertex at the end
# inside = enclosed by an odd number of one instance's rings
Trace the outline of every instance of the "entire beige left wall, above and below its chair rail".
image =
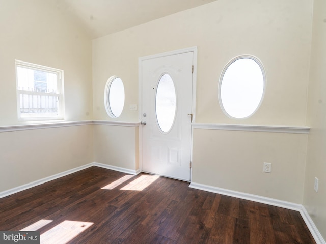
{"type": "MultiPolygon", "coordinates": [[[[15,59],[64,70],[66,121],[92,119],[92,46],[55,0],[0,0],[0,126],[17,120],[15,59]]],[[[93,161],[92,126],[0,133],[0,191],[93,161]]]]}

